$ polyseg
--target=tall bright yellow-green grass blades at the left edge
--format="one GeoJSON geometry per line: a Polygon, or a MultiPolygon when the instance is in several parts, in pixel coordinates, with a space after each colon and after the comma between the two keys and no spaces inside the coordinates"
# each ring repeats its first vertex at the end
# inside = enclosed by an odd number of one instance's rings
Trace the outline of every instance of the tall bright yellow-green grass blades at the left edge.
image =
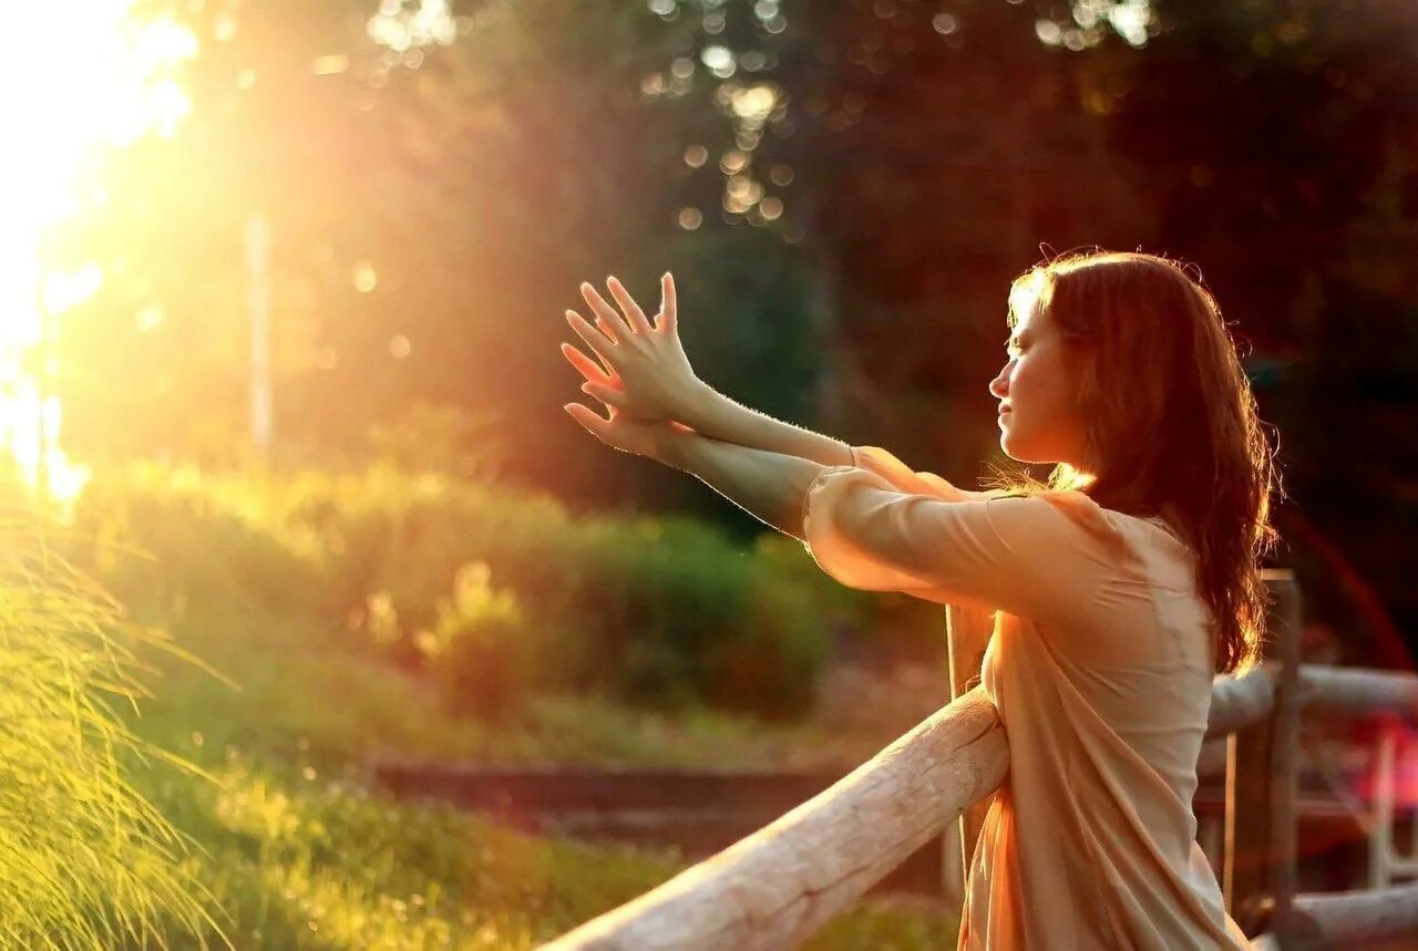
{"type": "Polygon", "coordinates": [[[54,526],[0,485],[0,945],[166,947],[162,923],[216,933],[186,843],[129,782],[187,768],[115,704],[142,694],[160,635],[50,547],[54,526]]]}

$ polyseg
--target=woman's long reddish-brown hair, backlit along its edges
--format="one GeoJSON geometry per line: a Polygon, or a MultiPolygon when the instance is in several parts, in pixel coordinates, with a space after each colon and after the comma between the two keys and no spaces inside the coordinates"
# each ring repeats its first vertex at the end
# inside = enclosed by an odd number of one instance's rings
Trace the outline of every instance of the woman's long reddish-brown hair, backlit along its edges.
{"type": "Polygon", "coordinates": [[[1271,444],[1215,298],[1183,265],[1150,254],[1076,252],[1014,281],[1010,327],[1038,306],[1079,370],[1085,456],[1048,483],[1098,505],[1164,517],[1195,557],[1211,608],[1215,669],[1241,673],[1261,655],[1266,590],[1261,558],[1283,497],[1271,444]]]}

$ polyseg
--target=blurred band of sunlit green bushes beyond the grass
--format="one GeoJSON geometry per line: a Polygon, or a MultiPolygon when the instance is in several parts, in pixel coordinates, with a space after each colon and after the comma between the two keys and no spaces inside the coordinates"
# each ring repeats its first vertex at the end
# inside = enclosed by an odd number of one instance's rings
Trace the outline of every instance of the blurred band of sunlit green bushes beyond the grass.
{"type": "Polygon", "coordinates": [[[194,598],[316,617],[350,651],[428,675],[468,713],[508,713],[535,692],[605,692],[793,716],[813,700],[834,628],[865,602],[787,537],[744,551],[683,517],[573,519],[546,496],[389,466],[142,466],[98,482],[79,512],[152,556],[111,565],[125,600],[156,601],[169,619],[194,598]],[[459,601],[459,571],[478,563],[520,605],[516,618],[459,601]]]}

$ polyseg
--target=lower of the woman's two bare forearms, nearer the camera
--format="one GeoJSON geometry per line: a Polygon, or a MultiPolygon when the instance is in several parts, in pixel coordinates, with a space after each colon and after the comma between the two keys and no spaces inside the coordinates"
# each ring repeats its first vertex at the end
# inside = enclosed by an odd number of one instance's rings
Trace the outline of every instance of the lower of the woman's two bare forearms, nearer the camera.
{"type": "Polygon", "coordinates": [[[828,468],[811,459],[675,429],[661,434],[655,459],[696,476],[753,517],[798,541],[803,541],[807,490],[828,468]]]}

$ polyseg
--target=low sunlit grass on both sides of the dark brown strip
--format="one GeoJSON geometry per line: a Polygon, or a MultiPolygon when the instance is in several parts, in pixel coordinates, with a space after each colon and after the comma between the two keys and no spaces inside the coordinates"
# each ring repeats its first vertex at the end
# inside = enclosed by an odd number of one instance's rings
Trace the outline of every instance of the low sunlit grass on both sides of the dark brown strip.
{"type": "MultiPolygon", "coordinates": [[[[669,849],[522,835],[396,802],[360,785],[372,757],[771,767],[805,750],[834,758],[837,748],[839,764],[847,755],[810,724],[668,716],[597,697],[537,697],[502,724],[454,720],[415,677],[306,652],[313,632],[241,636],[234,619],[204,629],[220,635],[224,648],[207,646],[240,689],[164,663],[135,726],[221,782],[177,777],[155,798],[210,852],[191,869],[231,916],[237,947],[527,948],[685,867],[669,849]]],[[[811,947],[953,947],[954,928],[954,918],[869,903],[811,947]]]]}

